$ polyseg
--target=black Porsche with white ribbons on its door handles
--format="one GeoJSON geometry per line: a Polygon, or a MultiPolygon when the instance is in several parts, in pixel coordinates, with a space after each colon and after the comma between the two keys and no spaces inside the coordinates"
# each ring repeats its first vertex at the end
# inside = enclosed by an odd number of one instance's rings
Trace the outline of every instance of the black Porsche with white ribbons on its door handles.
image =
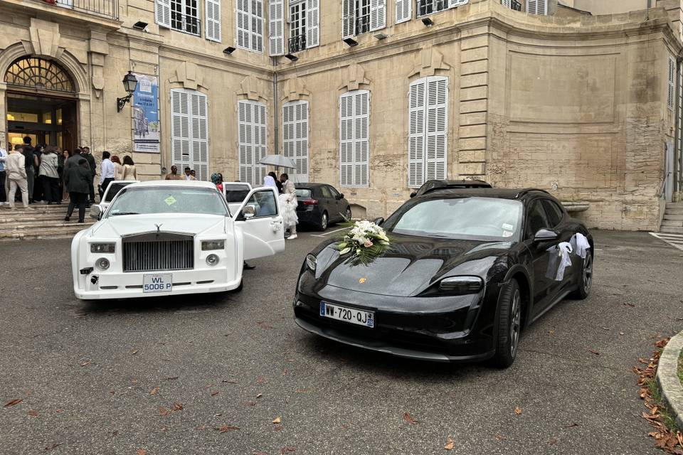
{"type": "Polygon", "coordinates": [[[327,240],[307,255],[296,323],[352,346],[512,365],[522,328],[593,281],[593,237],[545,191],[444,188],[376,220],[391,249],[354,264],[327,240]]]}

